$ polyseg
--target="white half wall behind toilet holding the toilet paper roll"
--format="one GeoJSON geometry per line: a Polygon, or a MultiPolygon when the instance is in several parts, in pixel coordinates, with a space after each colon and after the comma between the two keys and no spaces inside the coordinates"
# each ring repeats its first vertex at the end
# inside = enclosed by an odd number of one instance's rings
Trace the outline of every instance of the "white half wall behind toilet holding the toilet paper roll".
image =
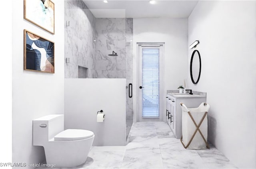
{"type": "Polygon", "coordinates": [[[126,79],[65,79],[65,129],[94,132],[93,145],[126,144],[126,79]],[[97,122],[103,110],[104,122],[97,122]]]}

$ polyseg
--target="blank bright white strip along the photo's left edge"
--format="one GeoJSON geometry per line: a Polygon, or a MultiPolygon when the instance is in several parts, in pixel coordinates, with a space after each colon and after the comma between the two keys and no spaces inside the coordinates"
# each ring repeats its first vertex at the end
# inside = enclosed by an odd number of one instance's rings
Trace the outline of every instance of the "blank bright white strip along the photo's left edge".
{"type": "MultiPolygon", "coordinates": [[[[6,1],[6,6],[12,6],[12,1],[6,1]]],[[[1,81],[0,83],[1,96],[0,96],[0,133],[1,133],[1,144],[0,144],[0,159],[2,162],[12,161],[12,8],[8,10],[0,10],[0,16],[2,23],[5,26],[0,27],[2,32],[0,41],[0,49],[2,53],[0,67],[1,81]],[[4,32],[4,33],[3,33],[4,32]]],[[[12,167],[5,167],[11,169],[12,167]]]]}

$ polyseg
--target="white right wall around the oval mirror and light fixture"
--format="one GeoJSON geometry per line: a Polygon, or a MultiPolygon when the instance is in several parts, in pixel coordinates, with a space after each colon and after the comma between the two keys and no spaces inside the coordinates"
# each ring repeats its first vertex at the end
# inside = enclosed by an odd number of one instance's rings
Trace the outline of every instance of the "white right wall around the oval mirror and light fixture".
{"type": "Polygon", "coordinates": [[[188,18],[195,40],[202,72],[189,88],[207,92],[208,139],[239,168],[256,168],[256,2],[199,1],[188,18]]]}

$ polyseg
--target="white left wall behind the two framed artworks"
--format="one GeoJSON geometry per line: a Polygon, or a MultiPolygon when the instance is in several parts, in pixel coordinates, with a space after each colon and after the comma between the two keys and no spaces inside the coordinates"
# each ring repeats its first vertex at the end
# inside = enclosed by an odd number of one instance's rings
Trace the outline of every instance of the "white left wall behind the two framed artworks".
{"type": "Polygon", "coordinates": [[[32,120],[64,113],[64,1],[55,4],[55,35],[23,19],[23,1],[12,4],[12,162],[39,163],[44,149],[32,145],[32,120]],[[55,73],[23,70],[23,29],[55,42],[55,73]]]}

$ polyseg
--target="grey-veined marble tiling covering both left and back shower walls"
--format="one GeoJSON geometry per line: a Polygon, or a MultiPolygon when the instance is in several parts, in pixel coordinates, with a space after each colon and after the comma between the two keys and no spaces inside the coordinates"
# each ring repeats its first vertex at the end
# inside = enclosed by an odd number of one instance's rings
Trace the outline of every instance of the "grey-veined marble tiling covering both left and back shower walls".
{"type": "MultiPolygon", "coordinates": [[[[132,79],[132,18],[95,18],[82,0],[65,1],[65,78],[78,78],[78,66],[88,78],[132,79]],[[82,21],[82,22],[81,22],[82,21]],[[96,40],[96,41],[94,41],[96,40]],[[118,56],[108,56],[115,51],[118,56]]],[[[132,120],[132,98],[126,90],[126,119],[132,120]]]]}

